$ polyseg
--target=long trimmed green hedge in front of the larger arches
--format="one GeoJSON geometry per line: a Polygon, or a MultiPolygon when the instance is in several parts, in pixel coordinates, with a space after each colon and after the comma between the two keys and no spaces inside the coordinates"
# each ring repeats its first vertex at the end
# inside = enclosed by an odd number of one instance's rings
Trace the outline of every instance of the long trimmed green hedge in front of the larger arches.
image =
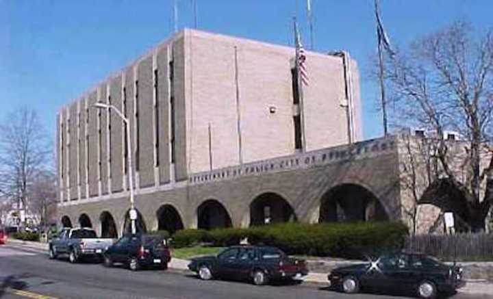
{"type": "Polygon", "coordinates": [[[249,229],[186,229],[173,235],[173,245],[179,248],[212,242],[213,246],[231,246],[248,237],[250,244],[275,246],[288,255],[357,259],[365,255],[401,250],[407,234],[407,226],[396,222],[291,222],[249,229]]]}

